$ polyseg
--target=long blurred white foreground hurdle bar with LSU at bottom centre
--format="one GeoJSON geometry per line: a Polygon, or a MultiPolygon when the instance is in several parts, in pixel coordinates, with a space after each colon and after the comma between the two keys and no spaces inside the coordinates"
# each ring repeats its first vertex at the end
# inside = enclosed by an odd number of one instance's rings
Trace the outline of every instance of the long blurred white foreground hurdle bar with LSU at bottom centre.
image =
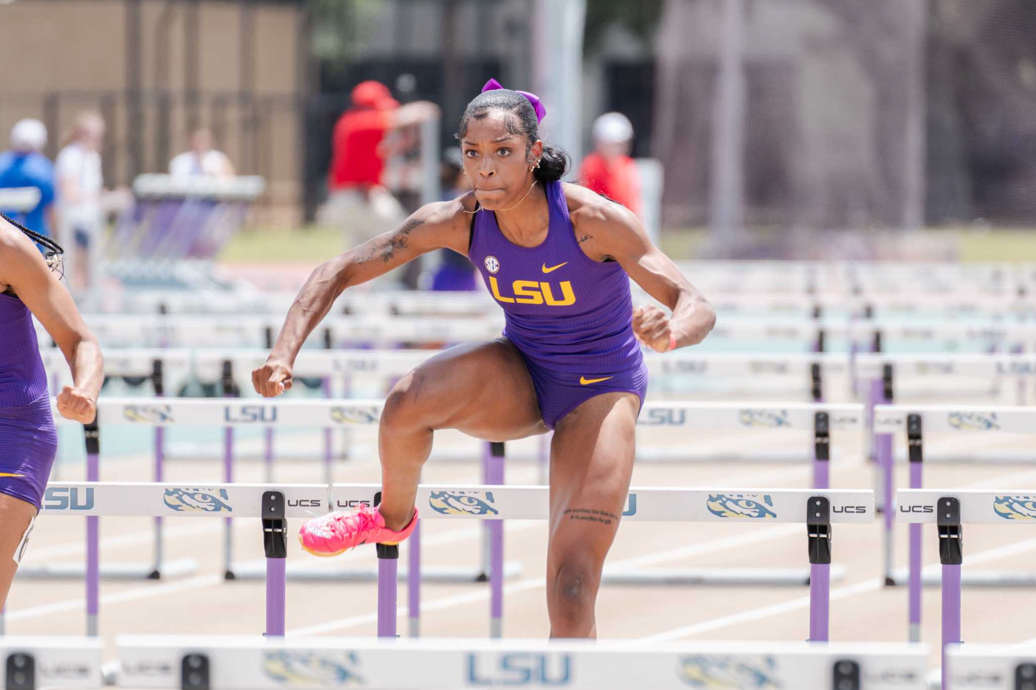
{"type": "Polygon", "coordinates": [[[140,689],[457,690],[565,687],[923,690],[914,644],[636,640],[370,640],[121,636],[119,685],[140,689]]]}

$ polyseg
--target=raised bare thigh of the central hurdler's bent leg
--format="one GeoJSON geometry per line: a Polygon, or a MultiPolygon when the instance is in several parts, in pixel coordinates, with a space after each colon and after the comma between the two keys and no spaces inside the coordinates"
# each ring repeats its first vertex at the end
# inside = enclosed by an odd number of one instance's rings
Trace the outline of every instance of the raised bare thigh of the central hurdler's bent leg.
{"type": "Polygon", "coordinates": [[[431,357],[396,385],[393,398],[418,408],[415,414],[433,429],[458,429],[486,441],[547,430],[525,361],[507,338],[431,357]]]}

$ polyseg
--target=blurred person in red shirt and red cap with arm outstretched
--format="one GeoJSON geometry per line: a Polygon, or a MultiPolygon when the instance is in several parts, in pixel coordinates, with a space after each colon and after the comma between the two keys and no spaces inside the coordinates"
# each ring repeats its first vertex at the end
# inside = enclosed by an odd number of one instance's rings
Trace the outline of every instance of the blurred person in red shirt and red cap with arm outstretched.
{"type": "Polygon", "coordinates": [[[352,108],[335,125],[327,180],[327,203],[319,221],[342,227],[346,247],[392,230],[406,216],[403,207],[381,185],[385,160],[413,146],[412,138],[388,137],[438,117],[428,101],[400,106],[379,82],[362,82],[352,89],[352,108]]]}

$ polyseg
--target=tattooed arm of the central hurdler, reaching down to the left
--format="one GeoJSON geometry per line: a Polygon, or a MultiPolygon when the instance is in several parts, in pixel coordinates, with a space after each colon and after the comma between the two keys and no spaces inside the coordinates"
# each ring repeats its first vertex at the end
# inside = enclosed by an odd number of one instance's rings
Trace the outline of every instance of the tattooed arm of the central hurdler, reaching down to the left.
{"type": "Polygon", "coordinates": [[[470,194],[426,204],[394,232],[384,233],[324,262],[310,274],[277,336],[266,363],[252,372],[252,385],[263,397],[291,388],[291,367],[306,338],[330,311],[339,295],[443,247],[467,253],[470,194]]]}

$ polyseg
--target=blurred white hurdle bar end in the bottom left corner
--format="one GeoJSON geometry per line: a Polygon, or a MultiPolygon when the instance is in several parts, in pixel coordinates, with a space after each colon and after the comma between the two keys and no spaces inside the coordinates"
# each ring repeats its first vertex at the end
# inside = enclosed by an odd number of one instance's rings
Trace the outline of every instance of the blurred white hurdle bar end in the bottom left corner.
{"type": "Polygon", "coordinates": [[[85,690],[103,685],[100,640],[95,637],[0,635],[7,690],[85,690]]]}

